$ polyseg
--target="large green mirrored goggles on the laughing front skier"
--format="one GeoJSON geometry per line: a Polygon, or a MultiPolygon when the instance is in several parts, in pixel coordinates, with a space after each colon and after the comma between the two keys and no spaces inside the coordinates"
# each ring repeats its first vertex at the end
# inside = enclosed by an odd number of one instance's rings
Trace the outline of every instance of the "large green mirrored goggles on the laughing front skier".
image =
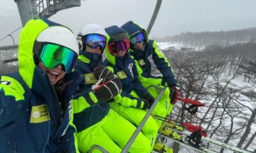
{"type": "Polygon", "coordinates": [[[38,57],[46,68],[62,65],[65,72],[70,72],[76,64],[77,53],[61,45],[46,43],[42,45],[38,57]]]}

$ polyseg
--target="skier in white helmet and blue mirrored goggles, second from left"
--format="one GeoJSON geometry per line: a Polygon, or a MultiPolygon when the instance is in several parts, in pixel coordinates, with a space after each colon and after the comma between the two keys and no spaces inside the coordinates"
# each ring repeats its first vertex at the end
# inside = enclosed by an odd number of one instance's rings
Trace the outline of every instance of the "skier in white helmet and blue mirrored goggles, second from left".
{"type": "MultiPolygon", "coordinates": [[[[79,85],[80,90],[94,88],[95,83],[97,88],[97,84],[106,84],[116,78],[102,62],[102,53],[107,40],[103,27],[97,24],[84,25],[77,34],[77,40],[81,50],[74,69],[84,76],[84,81],[79,85]]],[[[109,91],[115,91],[115,85],[109,85],[106,91],[102,91],[102,95],[109,91]]],[[[74,112],[74,124],[77,128],[76,136],[80,152],[88,152],[93,145],[99,145],[108,152],[121,152],[136,129],[130,122],[111,110],[108,102],[104,100],[90,108],[77,105],[74,109],[77,110],[74,112]]],[[[150,152],[149,140],[140,133],[129,152],[150,152]]]]}

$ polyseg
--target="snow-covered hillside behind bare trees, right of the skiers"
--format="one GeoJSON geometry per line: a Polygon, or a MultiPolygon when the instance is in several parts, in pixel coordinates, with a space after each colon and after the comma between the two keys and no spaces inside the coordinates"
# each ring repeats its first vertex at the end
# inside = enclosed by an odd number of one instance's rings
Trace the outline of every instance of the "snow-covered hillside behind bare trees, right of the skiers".
{"type": "MultiPolygon", "coordinates": [[[[248,94],[249,92],[256,93],[255,84],[253,84],[252,81],[248,82],[248,79],[246,79],[244,75],[241,75],[241,71],[237,73],[237,71],[235,71],[237,68],[232,68],[237,66],[236,61],[238,59],[240,60],[240,58],[243,59],[244,57],[216,57],[216,59],[219,58],[222,60],[220,63],[223,64],[224,62],[224,64],[222,67],[212,71],[212,73],[218,73],[218,71],[221,71],[221,73],[212,76],[205,75],[205,80],[198,82],[202,77],[204,78],[204,73],[202,73],[205,69],[204,66],[209,66],[209,64],[213,64],[212,66],[214,66],[214,62],[217,61],[212,59],[207,61],[207,57],[204,57],[204,59],[203,57],[202,59],[198,58],[195,59],[195,61],[193,61],[193,59],[189,59],[189,57],[186,59],[186,52],[185,55],[181,54],[182,57],[179,57],[179,51],[198,50],[195,48],[182,47],[178,43],[164,42],[157,44],[159,48],[163,50],[166,57],[168,57],[170,64],[175,67],[175,73],[178,75],[179,81],[184,85],[184,90],[186,91],[184,91],[184,94],[189,94],[189,98],[191,99],[198,98],[206,105],[204,108],[199,108],[198,113],[194,117],[195,120],[192,117],[190,122],[194,122],[195,124],[197,123],[196,125],[201,122],[202,126],[207,130],[208,136],[211,136],[213,140],[218,140],[220,142],[236,146],[240,142],[243,133],[245,133],[248,120],[251,119],[251,115],[256,108],[255,96],[254,98],[248,97],[250,96],[248,94]],[[228,61],[233,58],[235,62],[228,61]],[[202,60],[202,62],[200,62],[200,60],[202,60]],[[202,66],[200,66],[201,64],[202,66]],[[196,78],[196,75],[202,76],[201,78],[196,78]],[[244,80],[246,80],[246,82],[244,82],[244,80]],[[202,84],[203,82],[204,84],[202,84]],[[198,86],[201,87],[201,89],[196,89],[198,86]],[[223,92],[221,92],[222,90],[223,92]],[[241,93],[244,93],[244,95],[241,93]],[[204,120],[200,121],[202,118],[204,118],[204,120]],[[242,126],[243,124],[244,126],[242,126]],[[230,138],[227,138],[227,136],[230,136],[230,138]]],[[[201,49],[202,48],[200,48],[200,50],[201,49]]],[[[251,57],[253,56],[255,56],[255,54],[251,57]]],[[[211,69],[211,67],[209,68],[211,69]]],[[[177,115],[177,119],[180,118],[179,115],[182,111],[181,108],[181,103],[177,103],[173,110],[173,115],[177,115]]],[[[191,118],[188,115],[185,117],[185,120],[189,120],[188,117],[191,118]]],[[[243,143],[242,148],[246,147],[248,150],[256,149],[256,141],[255,139],[253,140],[253,136],[255,135],[253,135],[253,133],[255,132],[256,124],[252,123],[252,126],[250,126],[250,133],[247,136],[246,141],[243,143]],[[252,141],[250,146],[247,146],[246,143],[249,143],[250,141],[252,141]]],[[[170,143],[170,145],[172,144],[171,142],[168,143],[170,143]]],[[[220,151],[220,147],[216,145],[210,145],[210,148],[211,147],[220,151]]],[[[227,149],[222,151],[232,152],[227,149]]],[[[194,151],[182,148],[180,149],[180,152],[194,151]]]]}

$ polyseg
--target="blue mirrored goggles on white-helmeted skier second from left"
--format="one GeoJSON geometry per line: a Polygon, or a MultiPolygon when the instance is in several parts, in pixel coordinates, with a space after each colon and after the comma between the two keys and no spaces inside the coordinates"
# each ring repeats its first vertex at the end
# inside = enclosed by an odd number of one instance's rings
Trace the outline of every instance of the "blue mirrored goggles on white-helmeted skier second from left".
{"type": "Polygon", "coordinates": [[[106,47],[106,36],[101,34],[88,34],[85,38],[84,45],[87,45],[91,48],[100,47],[100,50],[104,50],[106,47]]]}

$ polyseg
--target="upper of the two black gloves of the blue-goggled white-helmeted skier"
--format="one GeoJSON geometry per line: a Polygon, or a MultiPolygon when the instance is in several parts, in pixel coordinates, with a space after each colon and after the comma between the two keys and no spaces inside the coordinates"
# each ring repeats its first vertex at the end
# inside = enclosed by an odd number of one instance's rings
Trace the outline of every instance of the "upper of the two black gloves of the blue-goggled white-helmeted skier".
{"type": "Polygon", "coordinates": [[[115,78],[115,75],[106,67],[104,66],[97,66],[93,70],[93,75],[97,80],[100,80],[103,78],[103,82],[108,82],[108,80],[111,80],[115,78]]]}

